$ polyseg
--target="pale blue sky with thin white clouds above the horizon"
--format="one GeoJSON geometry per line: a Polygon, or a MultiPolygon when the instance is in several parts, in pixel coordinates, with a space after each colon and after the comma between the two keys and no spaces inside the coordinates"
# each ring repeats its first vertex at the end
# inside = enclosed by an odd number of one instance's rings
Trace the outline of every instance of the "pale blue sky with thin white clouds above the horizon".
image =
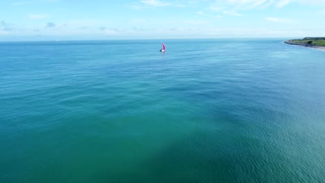
{"type": "Polygon", "coordinates": [[[325,36],[325,0],[17,0],[0,8],[0,41],[325,36]]]}

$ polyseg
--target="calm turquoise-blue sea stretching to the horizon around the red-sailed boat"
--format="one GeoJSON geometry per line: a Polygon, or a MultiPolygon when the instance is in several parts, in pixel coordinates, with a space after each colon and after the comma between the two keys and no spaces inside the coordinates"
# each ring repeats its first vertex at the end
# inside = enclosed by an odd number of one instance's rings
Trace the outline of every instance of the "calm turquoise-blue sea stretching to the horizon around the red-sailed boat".
{"type": "Polygon", "coordinates": [[[322,182],[325,51],[0,43],[0,182],[322,182]]]}

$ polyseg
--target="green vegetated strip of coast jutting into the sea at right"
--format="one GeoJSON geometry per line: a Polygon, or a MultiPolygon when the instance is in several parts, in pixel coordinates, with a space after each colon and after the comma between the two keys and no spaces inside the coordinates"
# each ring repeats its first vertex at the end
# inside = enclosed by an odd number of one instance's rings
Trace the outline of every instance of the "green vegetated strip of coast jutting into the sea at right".
{"type": "Polygon", "coordinates": [[[287,40],[284,43],[325,50],[325,37],[305,37],[298,40],[287,40]]]}

